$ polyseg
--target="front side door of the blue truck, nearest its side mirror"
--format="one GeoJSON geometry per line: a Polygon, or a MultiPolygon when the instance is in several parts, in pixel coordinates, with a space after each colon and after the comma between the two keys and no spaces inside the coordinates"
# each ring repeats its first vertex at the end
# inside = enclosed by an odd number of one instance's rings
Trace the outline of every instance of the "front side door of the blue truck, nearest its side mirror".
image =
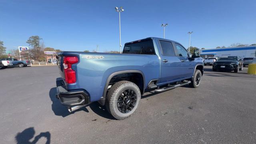
{"type": "Polygon", "coordinates": [[[194,61],[188,58],[188,51],[180,44],[172,42],[176,56],[180,60],[179,73],[183,78],[192,77],[194,74],[194,61]]]}

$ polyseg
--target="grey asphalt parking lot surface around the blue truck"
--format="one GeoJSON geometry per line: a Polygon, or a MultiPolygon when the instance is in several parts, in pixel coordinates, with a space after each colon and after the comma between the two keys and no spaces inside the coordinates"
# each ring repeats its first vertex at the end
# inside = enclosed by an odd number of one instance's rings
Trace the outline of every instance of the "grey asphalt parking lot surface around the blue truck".
{"type": "Polygon", "coordinates": [[[256,75],[204,70],[199,88],[148,92],[126,120],[97,102],[68,112],[56,66],[0,70],[1,143],[256,143],[256,75]]]}

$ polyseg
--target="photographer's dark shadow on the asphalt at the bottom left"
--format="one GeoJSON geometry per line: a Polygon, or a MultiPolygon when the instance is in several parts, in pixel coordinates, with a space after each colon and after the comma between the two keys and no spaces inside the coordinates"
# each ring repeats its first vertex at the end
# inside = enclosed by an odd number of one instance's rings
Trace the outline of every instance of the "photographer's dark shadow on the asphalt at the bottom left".
{"type": "Polygon", "coordinates": [[[35,133],[34,127],[26,128],[22,132],[18,132],[18,134],[15,136],[17,144],[36,144],[36,142],[38,142],[38,140],[42,137],[46,138],[46,144],[50,144],[50,132],[41,132],[34,138],[35,133]],[[30,142],[32,138],[34,138],[34,140],[30,142]]]}

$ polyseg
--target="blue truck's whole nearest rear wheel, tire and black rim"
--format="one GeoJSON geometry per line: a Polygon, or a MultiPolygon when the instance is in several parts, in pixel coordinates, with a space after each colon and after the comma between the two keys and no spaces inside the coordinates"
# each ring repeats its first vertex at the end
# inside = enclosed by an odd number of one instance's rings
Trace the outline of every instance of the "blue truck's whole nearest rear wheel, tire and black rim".
{"type": "Polygon", "coordinates": [[[114,118],[123,120],[134,114],[140,102],[140,89],[129,81],[115,83],[106,96],[106,108],[114,118]]]}

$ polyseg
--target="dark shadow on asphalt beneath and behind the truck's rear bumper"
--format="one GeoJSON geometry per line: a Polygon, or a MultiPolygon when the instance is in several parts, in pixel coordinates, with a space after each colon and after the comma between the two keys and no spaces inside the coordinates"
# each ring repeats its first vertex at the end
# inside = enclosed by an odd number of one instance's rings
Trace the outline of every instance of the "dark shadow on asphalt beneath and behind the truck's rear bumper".
{"type": "Polygon", "coordinates": [[[60,101],[56,98],[56,94],[57,94],[56,87],[51,88],[49,92],[49,97],[52,100],[52,111],[56,116],[66,117],[78,111],[89,112],[87,108],[90,107],[90,109],[96,114],[98,114],[99,116],[114,120],[114,117],[108,113],[108,111],[106,110],[106,107],[101,106],[98,102],[93,102],[92,104],[89,104],[88,106],[75,110],[74,112],[68,112],[68,108],[60,104],[60,101]]]}

